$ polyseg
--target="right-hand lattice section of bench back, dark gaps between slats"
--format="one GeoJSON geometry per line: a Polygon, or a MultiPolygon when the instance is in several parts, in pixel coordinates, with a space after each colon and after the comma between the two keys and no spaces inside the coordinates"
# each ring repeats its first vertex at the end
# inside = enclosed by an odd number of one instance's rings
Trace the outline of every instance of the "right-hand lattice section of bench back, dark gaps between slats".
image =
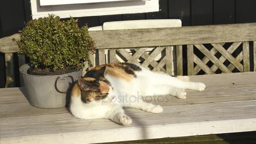
{"type": "Polygon", "coordinates": [[[249,42],[234,42],[228,47],[225,43],[187,45],[187,61],[188,75],[197,75],[200,70],[205,74],[215,74],[217,71],[231,73],[234,69],[249,72],[249,42]],[[240,45],[243,48],[239,51],[240,45]],[[194,53],[194,48],[204,55],[203,58],[194,53]]]}

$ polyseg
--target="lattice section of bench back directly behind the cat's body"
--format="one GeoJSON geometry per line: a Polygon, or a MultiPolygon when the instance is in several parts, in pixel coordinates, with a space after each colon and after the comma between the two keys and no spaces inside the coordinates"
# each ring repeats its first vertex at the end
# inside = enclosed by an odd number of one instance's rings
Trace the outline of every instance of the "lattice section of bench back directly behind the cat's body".
{"type": "Polygon", "coordinates": [[[96,65],[106,64],[108,62],[130,62],[147,67],[153,71],[162,71],[174,75],[172,46],[109,49],[107,50],[108,54],[106,54],[106,49],[98,49],[97,51],[96,61],[99,62],[96,62],[96,65]]]}

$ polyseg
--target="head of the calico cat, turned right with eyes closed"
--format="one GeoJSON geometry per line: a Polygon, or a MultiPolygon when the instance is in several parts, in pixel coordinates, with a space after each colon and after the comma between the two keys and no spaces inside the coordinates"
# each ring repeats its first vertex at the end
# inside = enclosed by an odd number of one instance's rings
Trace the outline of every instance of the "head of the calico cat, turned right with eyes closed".
{"type": "MultiPolygon", "coordinates": [[[[99,72],[104,72],[106,67],[102,67],[95,75],[100,75],[99,72]]],[[[104,75],[104,74],[103,74],[104,75]]],[[[104,77],[83,77],[78,79],[78,85],[81,91],[81,100],[85,103],[91,101],[111,102],[115,98],[113,88],[108,80],[104,77]]]]}

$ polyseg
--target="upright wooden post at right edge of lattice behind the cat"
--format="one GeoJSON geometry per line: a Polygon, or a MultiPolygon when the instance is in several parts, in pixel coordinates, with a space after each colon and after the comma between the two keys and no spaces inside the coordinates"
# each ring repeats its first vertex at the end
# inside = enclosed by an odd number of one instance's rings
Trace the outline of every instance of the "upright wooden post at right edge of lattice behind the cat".
{"type": "Polygon", "coordinates": [[[177,75],[183,75],[182,45],[176,46],[177,75]]]}

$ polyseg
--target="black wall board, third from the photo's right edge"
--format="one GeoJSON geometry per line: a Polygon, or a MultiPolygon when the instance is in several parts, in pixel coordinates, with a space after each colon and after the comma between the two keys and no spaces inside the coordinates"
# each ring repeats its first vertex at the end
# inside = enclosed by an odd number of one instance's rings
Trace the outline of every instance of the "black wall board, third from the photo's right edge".
{"type": "Polygon", "coordinates": [[[213,24],[213,0],[191,1],[191,25],[213,24]]]}

